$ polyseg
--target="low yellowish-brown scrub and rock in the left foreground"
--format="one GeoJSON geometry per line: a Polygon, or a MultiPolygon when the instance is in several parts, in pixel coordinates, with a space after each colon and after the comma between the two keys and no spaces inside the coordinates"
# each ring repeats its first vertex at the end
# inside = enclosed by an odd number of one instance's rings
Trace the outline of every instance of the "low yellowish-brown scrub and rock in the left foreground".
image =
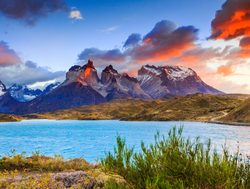
{"type": "Polygon", "coordinates": [[[98,189],[108,185],[109,180],[123,181],[117,175],[105,174],[100,165],[91,165],[81,158],[64,160],[37,153],[0,159],[0,189],[98,189]]]}

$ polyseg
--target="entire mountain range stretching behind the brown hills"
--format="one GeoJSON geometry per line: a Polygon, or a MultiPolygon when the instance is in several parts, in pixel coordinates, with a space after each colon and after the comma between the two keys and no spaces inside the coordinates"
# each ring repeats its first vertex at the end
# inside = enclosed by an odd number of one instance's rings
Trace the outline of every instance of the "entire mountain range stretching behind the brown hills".
{"type": "Polygon", "coordinates": [[[114,99],[156,99],[195,93],[222,94],[190,68],[146,65],[134,78],[109,65],[99,78],[93,61],[89,60],[83,66],[72,66],[62,84],[52,84],[45,90],[19,85],[6,89],[0,82],[0,112],[39,113],[114,99]]]}

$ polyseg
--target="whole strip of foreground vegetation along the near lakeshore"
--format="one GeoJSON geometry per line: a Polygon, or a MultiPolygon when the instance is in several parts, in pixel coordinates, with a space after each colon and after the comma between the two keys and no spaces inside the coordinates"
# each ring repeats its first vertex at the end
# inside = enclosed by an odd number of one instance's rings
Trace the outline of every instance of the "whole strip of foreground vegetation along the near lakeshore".
{"type": "Polygon", "coordinates": [[[97,165],[39,153],[2,157],[0,188],[248,189],[249,163],[239,152],[230,155],[224,148],[219,154],[210,141],[184,139],[182,128],[173,128],[166,138],[157,134],[148,147],[142,143],[140,152],[117,137],[114,152],[97,165]]]}

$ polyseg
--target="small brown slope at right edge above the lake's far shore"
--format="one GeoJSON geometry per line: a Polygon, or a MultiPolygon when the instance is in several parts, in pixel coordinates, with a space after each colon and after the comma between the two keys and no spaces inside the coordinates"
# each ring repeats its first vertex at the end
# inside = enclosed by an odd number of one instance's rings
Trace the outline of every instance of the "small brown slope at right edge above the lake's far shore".
{"type": "Polygon", "coordinates": [[[241,103],[227,116],[223,117],[221,121],[225,122],[240,122],[250,123],[250,98],[241,103]]]}

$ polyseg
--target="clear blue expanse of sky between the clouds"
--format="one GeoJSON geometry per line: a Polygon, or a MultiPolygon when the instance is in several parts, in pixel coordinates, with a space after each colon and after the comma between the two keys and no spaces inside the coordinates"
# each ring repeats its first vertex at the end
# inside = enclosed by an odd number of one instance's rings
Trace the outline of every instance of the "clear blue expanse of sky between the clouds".
{"type": "Polygon", "coordinates": [[[83,20],[68,19],[55,12],[34,26],[0,17],[0,39],[24,60],[53,70],[68,70],[85,48],[121,47],[131,33],[148,33],[161,20],[176,25],[194,25],[201,39],[210,35],[210,22],[222,0],[68,0],[81,11],[83,20]],[[113,28],[113,30],[112,30],[113,28]],[[109,31],[110,29],[110,31],[109,31]],[[107,31],[106,31],[107,30],[107,31]]]}

